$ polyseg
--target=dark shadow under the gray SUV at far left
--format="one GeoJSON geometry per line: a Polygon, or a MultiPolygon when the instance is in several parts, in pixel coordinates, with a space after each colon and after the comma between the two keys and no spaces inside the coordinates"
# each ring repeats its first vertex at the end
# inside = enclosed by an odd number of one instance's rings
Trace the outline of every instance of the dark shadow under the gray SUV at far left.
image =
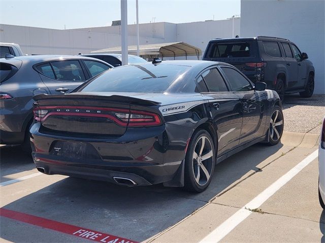
{"type": "Polygon", "coordinates": [[[0,147],[0,181],[15,173],[29,171],[35,168],[31,155],[22,150],[20,146],[0,147]]]}

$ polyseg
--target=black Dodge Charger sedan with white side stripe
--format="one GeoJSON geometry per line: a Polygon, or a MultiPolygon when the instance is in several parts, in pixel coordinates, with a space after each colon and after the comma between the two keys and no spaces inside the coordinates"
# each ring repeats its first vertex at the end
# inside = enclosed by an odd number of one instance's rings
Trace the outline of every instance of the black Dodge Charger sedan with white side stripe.
{"type": "Polygon", "coordinates": [[[280,141],[281,101],[265,89],[221,62],[113,68],[72,93],[34,97],[32,156],[48,175],[200,192],[216,163],[280,141]]]}

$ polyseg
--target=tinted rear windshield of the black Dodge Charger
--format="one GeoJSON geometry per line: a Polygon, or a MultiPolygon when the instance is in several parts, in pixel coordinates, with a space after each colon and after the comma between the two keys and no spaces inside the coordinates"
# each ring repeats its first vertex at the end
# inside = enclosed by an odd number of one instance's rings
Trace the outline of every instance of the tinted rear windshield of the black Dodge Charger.
{"type": "Polygon", "coordinates": [[[81,92],[163,93],[187,68],[152,64],[112,68],[93,79],[81,92]]]}

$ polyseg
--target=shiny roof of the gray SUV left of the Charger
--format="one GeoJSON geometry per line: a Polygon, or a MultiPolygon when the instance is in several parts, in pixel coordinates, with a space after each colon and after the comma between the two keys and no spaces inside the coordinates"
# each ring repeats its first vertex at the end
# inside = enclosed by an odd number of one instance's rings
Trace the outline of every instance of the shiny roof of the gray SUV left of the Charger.
{"type": "MultiPolygon", "coordinates": [[[[69,60],[69,59],[84,59],[84,60],[96,60],[98,59],[92,57],[83,57],[83,56],[70,56],[70,55],[31,55],[31,56],[20,56],[20,57],[13,57],[13,58],[1,58],[0,62],[5,63],[14,63],[17,61],[29,62],[32,65],[40,62],[47,62],[47,61],[56,61],[56,60],[69,60]]],[[[104,61],[101,61],[106,63],[104,61]]]]}

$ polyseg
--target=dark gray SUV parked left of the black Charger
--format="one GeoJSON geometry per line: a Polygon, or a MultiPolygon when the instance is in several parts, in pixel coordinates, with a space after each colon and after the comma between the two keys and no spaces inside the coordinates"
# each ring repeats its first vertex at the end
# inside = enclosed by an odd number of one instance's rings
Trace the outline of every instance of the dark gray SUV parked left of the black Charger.
{"type": "Polygon", "coordinates": [[[29,149],[32,97],[70,92],[112,66],[82,56],[21,56],[0,59],[0,142],[29,149]]]}

